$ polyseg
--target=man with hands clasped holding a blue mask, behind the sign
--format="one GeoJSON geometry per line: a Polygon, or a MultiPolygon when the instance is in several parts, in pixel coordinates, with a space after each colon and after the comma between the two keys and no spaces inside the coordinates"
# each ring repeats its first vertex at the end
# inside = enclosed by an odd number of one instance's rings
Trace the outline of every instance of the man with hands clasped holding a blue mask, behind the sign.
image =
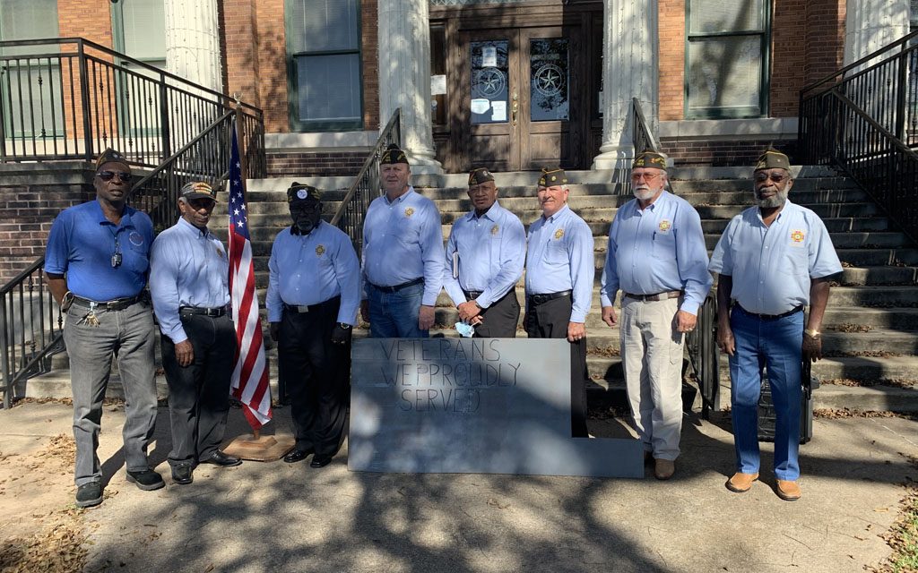
{"type": "Polygon", "coordinates": [[[476,325],[476,337],[513,338],[520,321],[515,287],[526,259],[526,230],[498,203],[498,186],[486,168],[469,172],[468,197],[473,208],[453,223],[446,244],[443,286],[460,320],[476,325]]]}

